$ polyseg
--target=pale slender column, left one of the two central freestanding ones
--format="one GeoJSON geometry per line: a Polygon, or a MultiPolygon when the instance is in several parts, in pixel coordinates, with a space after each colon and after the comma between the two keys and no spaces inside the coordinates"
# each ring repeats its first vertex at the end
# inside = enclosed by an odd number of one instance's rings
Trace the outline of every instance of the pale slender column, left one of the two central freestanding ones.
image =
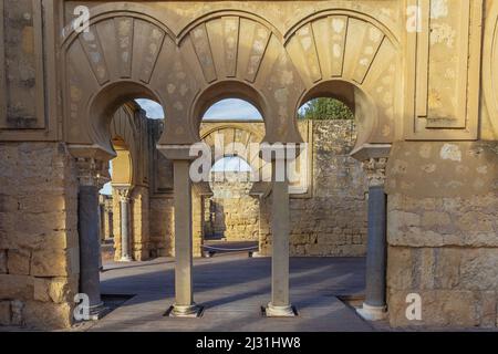
{"type": "Polygon", "coordinates": [[[174,169],[175,202],[175,304],[173,314],[189,316],[198,311],[193,293],[193,219],[190,160],[176,159],[174,169]]]}

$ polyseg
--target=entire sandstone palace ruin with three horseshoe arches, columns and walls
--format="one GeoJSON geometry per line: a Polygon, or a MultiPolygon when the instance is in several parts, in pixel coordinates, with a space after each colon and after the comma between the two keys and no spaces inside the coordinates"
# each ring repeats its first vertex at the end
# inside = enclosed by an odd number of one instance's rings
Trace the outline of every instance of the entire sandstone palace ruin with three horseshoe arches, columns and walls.
{"type": "Polygon", "coordinates": [[[497,140],[498,1],[2,0],[0,325],[496,330],[497,140]]]}

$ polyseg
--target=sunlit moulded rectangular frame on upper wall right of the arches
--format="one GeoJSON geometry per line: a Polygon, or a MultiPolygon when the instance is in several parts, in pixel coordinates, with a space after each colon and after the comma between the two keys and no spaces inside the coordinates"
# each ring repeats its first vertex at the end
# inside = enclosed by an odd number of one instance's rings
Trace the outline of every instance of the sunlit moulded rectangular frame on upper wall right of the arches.
{"type": "MultiPolygon", "coordinates": [[[[476,140],[479,126],[480,50],[483,25],[483,0],[461,0],[464,15],[459,24],[467,60],[461,60],[460,70],[467,80],[459,81],[457,104],[459,116],[454,126],[428,124],[428,60],[429,60],[429,15],[432,0],[407,0],[406,6],[421,9],[422,31],[406,33],[406,103],[404,135],[413,140],[476,140]],[[427,72],[427,75],[418,73],[427,72]],[[412,94],[413,93],[413,94],[412,94]]],[[[460,76],[461,77],[461,76],[460,76]]],[[[457,79],[458,80],[458,79],[457,79]]]]}

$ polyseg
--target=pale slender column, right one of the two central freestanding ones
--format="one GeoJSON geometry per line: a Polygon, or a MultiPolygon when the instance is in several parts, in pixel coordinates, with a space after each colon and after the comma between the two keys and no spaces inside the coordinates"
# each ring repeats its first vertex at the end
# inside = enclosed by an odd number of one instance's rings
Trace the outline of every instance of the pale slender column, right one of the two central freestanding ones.
{"type": "Polygon", "coordinates": [[[286,158],[272,160],[271,302],[267,316],[293,316],[289,301],[289,181],[286,158]],[[283,171],[281,170],[283,168],[283,171]],[[278,171],[280,169],[280,173],[278,171]],[[280,176],[278,176],[280,175],[280,176]]]}

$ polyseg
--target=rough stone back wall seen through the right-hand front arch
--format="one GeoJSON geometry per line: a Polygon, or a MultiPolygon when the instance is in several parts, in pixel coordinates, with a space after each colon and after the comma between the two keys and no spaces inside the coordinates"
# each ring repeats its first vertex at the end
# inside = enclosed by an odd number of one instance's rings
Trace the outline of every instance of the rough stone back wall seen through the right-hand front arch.
{"type": "MultiPolygon", "coordinates": [[[[304,124],[309,122],[300,122],[301,129],[304,124]]],[[[367,188],[361,164],[349,156],[356,139],[353,122],[314,121],[311,129],[310,190],[290,199],[291,256],[365,256],[367,188]]],[[[262,254],[270,254],[267,232],[261,233],[262,254]]]]}

